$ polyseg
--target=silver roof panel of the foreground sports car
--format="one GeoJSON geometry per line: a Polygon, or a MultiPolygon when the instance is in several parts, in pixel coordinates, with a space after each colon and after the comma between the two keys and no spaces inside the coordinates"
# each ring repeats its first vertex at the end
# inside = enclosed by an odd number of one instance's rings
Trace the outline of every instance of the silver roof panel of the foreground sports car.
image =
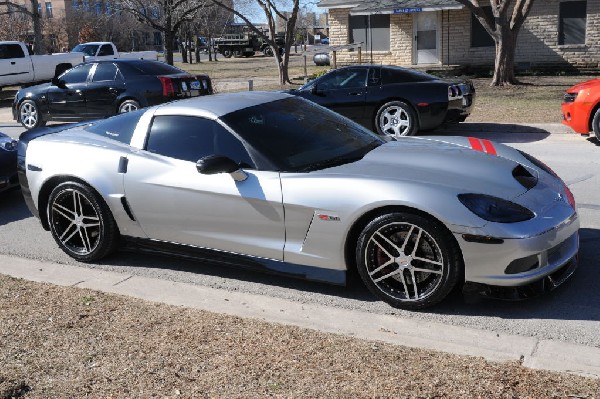
{"type": "Polygon", "coordinates": [[[185,100],[173,101],[157,106],[154,115],[187,115],[219,118],[240,109],[265,104],[285,98],[300,99],[282,92],[245,91],[237,93],[219,93],[185,100]]]}

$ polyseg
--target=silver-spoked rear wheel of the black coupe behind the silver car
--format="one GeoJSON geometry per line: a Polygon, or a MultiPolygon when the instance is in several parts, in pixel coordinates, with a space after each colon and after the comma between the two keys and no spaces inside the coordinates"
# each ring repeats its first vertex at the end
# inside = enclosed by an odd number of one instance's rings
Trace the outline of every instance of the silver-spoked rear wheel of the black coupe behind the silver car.
{"type": "Polygon", "coordinates": [[[398,138],[416,134],[419,122],[410,105],[403,101],[391,101],[377,111],[375,128],[382,136],[398,138]]]}

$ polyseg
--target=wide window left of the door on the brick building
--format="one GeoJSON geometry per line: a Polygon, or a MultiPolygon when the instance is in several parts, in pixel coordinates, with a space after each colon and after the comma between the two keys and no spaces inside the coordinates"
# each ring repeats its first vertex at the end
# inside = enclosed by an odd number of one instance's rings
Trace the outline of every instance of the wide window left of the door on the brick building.
{"type": "Polygon", "coordinates": [[[362,48],[367,51],[390,50],[390,16],[379,15],[350,15],[350,43],[362,42],[362,48]]]}

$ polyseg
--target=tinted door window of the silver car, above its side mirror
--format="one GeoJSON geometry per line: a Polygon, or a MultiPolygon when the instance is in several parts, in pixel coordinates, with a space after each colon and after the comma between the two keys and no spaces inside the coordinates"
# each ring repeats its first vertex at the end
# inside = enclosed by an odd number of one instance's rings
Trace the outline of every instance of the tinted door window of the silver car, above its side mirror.
{"type": "Polygon", "coordinates": [[[254,167],[242,143],[223,126],[193,116],[155,117],[146,150],[194,163],[207,155],[224,155],[243,167],[254,167]]]}

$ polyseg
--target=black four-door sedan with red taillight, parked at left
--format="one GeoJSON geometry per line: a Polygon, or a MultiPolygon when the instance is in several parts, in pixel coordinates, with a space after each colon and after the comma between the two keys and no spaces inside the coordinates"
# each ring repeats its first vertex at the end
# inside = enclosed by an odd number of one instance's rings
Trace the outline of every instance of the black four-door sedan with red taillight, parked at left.
{"type": "Polygon", "coordinates": [[[105,118],[179,98],[212,93],[210,78],[149,60],[107,60],[77,65],[51,83],[23,88],[13,117],[26,129],[47,121],[105,118]]]}

